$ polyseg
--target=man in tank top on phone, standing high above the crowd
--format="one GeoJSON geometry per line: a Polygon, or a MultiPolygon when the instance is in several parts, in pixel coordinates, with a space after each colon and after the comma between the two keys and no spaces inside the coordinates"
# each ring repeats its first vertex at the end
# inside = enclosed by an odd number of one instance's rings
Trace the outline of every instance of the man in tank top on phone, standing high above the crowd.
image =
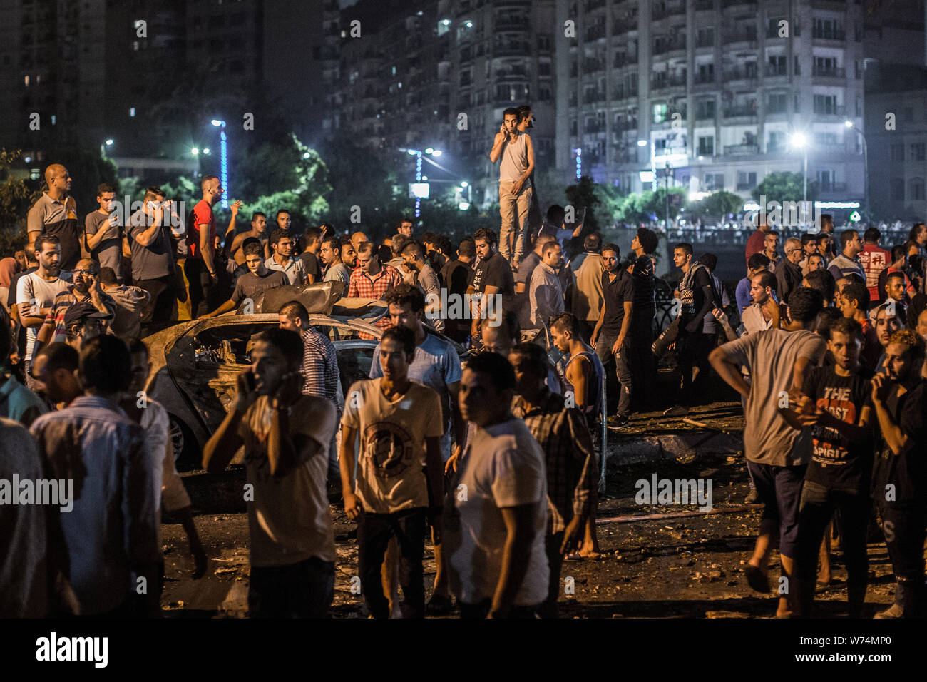
{"type": "Polygon", "coordinates": [[[499,212],[502,226],[499,252],[515,270],[525,251],[527,212],[531,207],[534,188],[531,173],[534,171],[534,147],[531,137],[518,130],[518,109],[502,111],[502,126],[492,141],[489,161],[499,166],[499,212]],[[514,242],[514,243],[513,243],[514,242]]]}

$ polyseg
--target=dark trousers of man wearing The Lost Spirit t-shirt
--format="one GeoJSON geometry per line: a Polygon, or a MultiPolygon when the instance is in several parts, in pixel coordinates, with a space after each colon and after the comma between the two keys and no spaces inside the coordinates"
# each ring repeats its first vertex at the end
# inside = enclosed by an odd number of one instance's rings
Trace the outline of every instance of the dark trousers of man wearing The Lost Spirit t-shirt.
{"type": "Polygon", "coordinates": [[[794,569],[803,615],[810,615],[814,604],[818,549],[834,510],[839,510],[850,617],[858,617],[866,598],[869,575],[866,530],[869,525],[870,508],[869,495],[831,490],[819,483],[805,482],[802,488],[801,509],[798,512],[798,556],[794,569]]]}

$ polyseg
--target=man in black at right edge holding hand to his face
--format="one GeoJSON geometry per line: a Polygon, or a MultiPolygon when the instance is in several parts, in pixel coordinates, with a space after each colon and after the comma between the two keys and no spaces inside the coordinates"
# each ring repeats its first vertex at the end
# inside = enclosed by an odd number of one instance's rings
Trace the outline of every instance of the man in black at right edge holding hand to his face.
{"type": "Polygon", "coordinates": [[[872,405],[882,431],[872,470],[885,546],[895,571],[895,603],[876,618],[911,618],[924,608],[924,526],[927,523],[927,381],[924,349],[909,329],[896,331],[885,350],[887,375],[872,378],[872,405]]]}

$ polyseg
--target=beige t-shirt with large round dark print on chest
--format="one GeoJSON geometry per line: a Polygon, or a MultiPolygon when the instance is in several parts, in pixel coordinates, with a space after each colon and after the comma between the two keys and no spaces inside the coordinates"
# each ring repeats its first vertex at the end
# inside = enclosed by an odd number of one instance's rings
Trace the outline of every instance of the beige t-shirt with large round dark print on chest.
{"type": "Polygon", "coordinates": [[[355,495],[364,511],[375,514],[426,508],[425,438],[443,432],[438,393],[412,381],[390,403],[382,381],[355,381],[345,396],[341,426],[357,429],[361,438],[355,495]]]}

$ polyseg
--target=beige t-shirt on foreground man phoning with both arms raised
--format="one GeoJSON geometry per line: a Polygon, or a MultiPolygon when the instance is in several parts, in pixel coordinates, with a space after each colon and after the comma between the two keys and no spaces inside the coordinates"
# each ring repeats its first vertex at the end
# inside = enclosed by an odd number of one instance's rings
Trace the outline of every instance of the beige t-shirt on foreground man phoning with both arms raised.
{"type": "Polygon", "coordinates": [[[319,444],[319,450],[283,476],[271,476],[267,458],[271,412],[270,398],[260,396],[238,429],[245,441],[248,483],[254,486],[254,499],[248,501],[251,565],[289,566],[312,557],[334,561],[326,479],[328,444],[337,424],[335,406],[314,395],[303,395],[293,405],[290,429],[294,438],[309,437],[319,444]]]}

